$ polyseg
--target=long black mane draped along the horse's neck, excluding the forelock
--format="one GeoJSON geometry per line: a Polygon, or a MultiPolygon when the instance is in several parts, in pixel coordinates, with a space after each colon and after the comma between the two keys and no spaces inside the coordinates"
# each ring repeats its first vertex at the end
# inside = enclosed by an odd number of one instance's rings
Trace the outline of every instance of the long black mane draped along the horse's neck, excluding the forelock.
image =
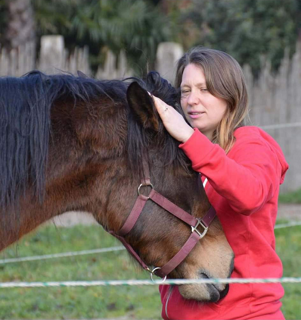
{"type": "Polygon", "coordinates": [[[45,168],[55,100],[107,95],[126,98],[121,81],[97,81],[70,74],[47,76],[32,71],[20,78],[0,78],[0,207],[12,205],[32,183],[39,199],[45,187],[45,168]]]}

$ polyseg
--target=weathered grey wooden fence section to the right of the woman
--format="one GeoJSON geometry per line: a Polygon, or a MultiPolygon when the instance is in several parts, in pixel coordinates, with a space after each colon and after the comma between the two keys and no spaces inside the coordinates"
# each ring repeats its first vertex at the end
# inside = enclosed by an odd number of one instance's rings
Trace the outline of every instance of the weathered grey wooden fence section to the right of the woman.
{"type": "Polygon", "coordinates": [[[301,42],[289,59],[286,51],[277,74],[267,61],[258,81],[244,67],[250,95],[250,119],[266,130],[281,146],[289,164],[281,192],[301,187],[301,42]]]}

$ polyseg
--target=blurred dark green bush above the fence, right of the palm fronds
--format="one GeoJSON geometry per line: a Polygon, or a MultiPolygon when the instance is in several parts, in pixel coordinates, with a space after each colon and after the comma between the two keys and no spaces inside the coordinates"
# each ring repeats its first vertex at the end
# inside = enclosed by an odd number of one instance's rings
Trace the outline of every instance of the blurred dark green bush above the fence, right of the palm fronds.
{"type": "Polygon", "coordinates": [[[277,70],[284,48],[294,52],[300,14],[300,0],[203,0],[201,6],[193,0],[181,19],[189,29],[187,46],[225,51],[256,75],[262,56],[277,70]]]}

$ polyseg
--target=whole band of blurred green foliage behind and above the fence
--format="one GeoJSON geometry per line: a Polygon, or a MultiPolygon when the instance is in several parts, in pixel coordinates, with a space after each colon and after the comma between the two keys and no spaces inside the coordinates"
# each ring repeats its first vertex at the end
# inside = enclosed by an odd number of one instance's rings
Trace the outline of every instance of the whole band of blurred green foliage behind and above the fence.
{"type": "Polygon", "coordinates": [[[301,0],[0,0],[2,46],[9,45],[8,3],[24,1],[34,10],[37,44],[42,35],[61,34],[70,51],[87,45],[93,70],[107,50],[125,50],[140,75],[155,67],[160,42],[177,41],[185,50],[226,51],[257,75],[263,57],[277,70],[284,49],[291,55],[301,38],[301,0]]]}

